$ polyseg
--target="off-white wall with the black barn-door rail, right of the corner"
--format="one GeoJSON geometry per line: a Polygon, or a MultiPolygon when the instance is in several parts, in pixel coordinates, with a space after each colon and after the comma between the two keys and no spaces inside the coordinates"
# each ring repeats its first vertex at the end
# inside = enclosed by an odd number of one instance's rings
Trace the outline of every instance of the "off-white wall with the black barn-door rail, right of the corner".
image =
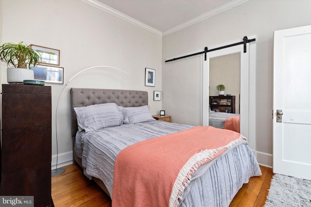
{"type": "Polygon", "coordinates": [[[273,32],[310,25],[310,8],[310,0],[249,0],[164,36],[162,108],[174,122],[200,124],[200,58],[168,64],[166,58],[256,35],[256,154],[259,163],[272,166],[273,32]]]}

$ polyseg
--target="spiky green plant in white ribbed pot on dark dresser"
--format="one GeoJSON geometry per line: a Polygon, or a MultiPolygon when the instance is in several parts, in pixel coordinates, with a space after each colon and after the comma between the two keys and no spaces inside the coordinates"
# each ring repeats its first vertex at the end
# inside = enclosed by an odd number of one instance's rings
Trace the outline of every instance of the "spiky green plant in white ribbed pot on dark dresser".
{"type": "Polygon", "coordinates": [[[41,55],[23,42],[18,44],[4,43],[0,47],[0,60],[6,63],[8,83],[23,83],[24,80],[34,80],[35,66],[42,60],[41,55]]]}

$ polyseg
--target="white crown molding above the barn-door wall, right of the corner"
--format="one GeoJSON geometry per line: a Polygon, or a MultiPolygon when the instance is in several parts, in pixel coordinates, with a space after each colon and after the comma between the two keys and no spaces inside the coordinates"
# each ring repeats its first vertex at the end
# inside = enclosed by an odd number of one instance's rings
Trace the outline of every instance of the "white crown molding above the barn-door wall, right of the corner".
{"type": "Polygon", "coordinates": [[[198,23],[198,22],[200,22],[200,21],[202,21],[204,19],[207,19],[207,18],[209,18],[211,16],[215,16],[215,15],[217,15],[219,13],[222,13],[222,12],[228,10],[228,9],[231,9],[231,8],[233,8],[235,6],[238,6],[238,5],[240,5],[240,4],[242,4],[242,3],[246,2],[246,1],[248,1],[248,0],[232,0],[232,1],[230,1],[230,2],[228,2],[226,4],[224,4],[224,5],[216,8],[216,9],[213,9],[213,10],[203,14],[203,15],[200,15],[198,17],[190,19],[189,21],[186,21],[186,22],[184,22],[184,23],[182,23],[180,25],[177,25],[176,27],[173,27],[173,28],[171,28],[169,30],[164,31],[162,36],[165,36],[165,35],[171,34],[173,32],[176,32],[178,30],[181,30],[181,29],[184,29],[186,27],[189,27],[192,24],[198,23]]]}

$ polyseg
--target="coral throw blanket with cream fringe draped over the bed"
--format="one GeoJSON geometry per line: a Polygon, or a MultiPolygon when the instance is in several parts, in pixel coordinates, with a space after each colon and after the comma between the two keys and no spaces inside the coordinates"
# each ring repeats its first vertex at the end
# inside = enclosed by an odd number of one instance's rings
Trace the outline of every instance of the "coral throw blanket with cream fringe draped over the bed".
{"type": "Polygon", "coordinates": [[[199,166],[245,142],[237,132],[199,126],[133,144],[117,156],[112,206],[176,207],[199,166]]]}

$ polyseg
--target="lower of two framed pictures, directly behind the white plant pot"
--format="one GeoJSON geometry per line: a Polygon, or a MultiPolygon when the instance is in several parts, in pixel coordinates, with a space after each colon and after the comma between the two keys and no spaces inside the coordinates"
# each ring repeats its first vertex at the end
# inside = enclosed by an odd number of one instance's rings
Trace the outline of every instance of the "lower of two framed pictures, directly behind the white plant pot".
{"type": "Polygon", "coordinates": [[[35,80],[44,80],[50,83],[64,83],[64,68],[49,66],[49,65],[36,65],[30,67],[34,71],[35,80]]]}

